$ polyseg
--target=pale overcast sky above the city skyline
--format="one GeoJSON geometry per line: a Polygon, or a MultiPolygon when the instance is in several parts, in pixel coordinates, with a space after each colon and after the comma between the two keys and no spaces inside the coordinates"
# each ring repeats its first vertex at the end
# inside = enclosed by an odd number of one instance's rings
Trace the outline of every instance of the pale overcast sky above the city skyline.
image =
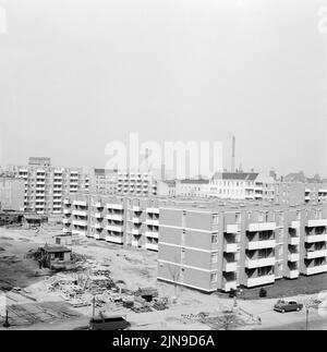
{"type": "Polygon", "coordinates": [[[244,170],[327,177],[325,7],[0,0],[0,165],[104,167],[106,145],[136,132],[221,141],[230,168],[233,134],[244,170]]]}

